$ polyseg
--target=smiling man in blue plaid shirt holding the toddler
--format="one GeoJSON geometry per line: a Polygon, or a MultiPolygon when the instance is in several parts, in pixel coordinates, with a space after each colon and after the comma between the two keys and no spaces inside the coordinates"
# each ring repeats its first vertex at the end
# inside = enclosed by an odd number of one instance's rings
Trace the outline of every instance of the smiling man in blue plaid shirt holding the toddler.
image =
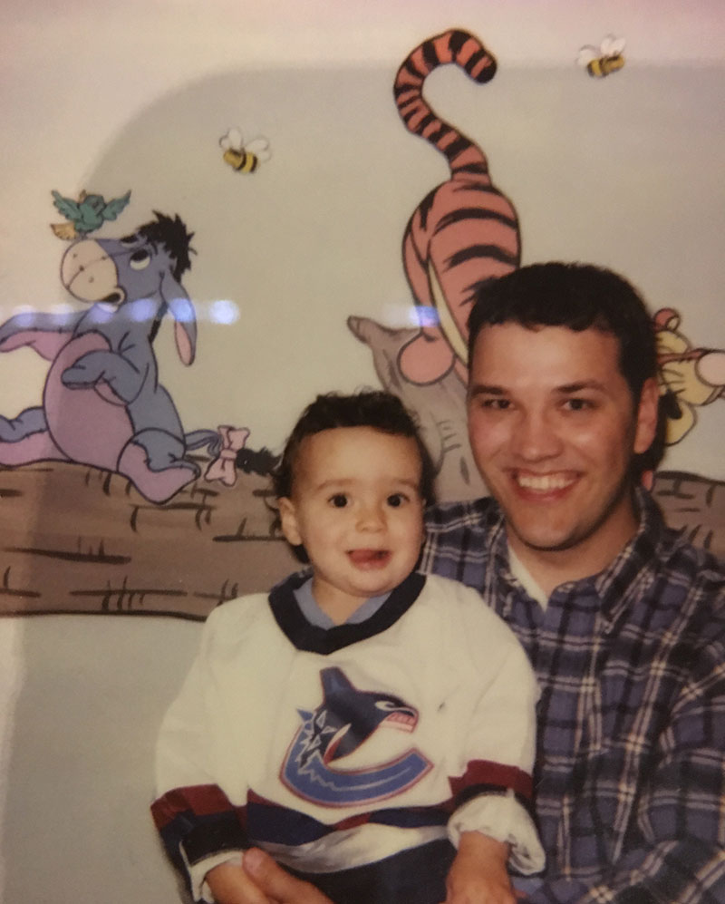
{"type": "MultiPolygon", "coordinates": [[[[721,904],[725,580],[639,487],[649,316],[609,271],[544,264],[485,287],[469,331],[469,437],[493,499],[431,510],[421,561],[478,588],[536,669],[547,866],[530,901],[721,904]]],[[[296,893],[280,900],[324,900],[296,893]]]]}

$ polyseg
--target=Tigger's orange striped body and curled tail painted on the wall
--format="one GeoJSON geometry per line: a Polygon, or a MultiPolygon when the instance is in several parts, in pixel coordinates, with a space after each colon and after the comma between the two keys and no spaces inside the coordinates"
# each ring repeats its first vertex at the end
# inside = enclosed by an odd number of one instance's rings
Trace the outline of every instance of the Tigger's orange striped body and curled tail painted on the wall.
{"type": "Polygon", "coordinates": [[[444,154],[450,168],[450,179],[423,199],[403,236],[406,277],[416,305],[425,309],[420,331],[401,349],[398,362],[414,384],[435,383],[449,371],[467,382],[473,298],[478,287],[516,269],[520,260],[516,210],[491,183],[485,154],[423,97],[426,77],[445,63],[456,63],[478,83],[496,73],[496,60],[478,38],[450,30],[416,47],[395,78],[402,121],[444,154]]]}

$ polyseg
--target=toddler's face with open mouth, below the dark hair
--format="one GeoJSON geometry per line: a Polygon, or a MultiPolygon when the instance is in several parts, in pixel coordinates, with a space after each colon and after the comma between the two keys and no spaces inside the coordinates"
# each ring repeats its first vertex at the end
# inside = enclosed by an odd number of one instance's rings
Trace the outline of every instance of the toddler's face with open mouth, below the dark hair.
{"type": "Polygon", "coordinates": [[[314,598],[335,620],[415,567],[423,539],[420,473],[407,436],[340,427],[304,438],[292,498],[280,500],[282,530],[304,545],[314,598]]]}

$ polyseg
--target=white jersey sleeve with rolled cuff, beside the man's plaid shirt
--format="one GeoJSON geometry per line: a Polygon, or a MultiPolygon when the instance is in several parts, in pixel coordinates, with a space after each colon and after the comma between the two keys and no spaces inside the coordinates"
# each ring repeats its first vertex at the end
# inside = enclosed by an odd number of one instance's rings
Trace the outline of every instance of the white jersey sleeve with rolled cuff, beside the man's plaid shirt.
{"type": "Polygon", "coordinates": [[[536,677],[513,632],[478,595],[464,608],[461,627],[461,654],[469,656],[469,681],[478,695],[465,726],[460,773],[449,778],[455,806],[449,837],[457,845],[461,832],[480,831],[510,845],[514,870],[538,872],[546,858],[532,803],[536,677]]]}

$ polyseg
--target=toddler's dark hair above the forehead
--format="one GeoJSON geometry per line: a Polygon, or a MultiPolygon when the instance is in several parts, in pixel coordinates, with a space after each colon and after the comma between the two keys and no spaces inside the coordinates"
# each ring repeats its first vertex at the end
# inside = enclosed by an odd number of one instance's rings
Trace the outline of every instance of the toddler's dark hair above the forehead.
{"type": "Polygon", "coordinates": [[[420,455],[420,496],[426,505],[435,501],[433,462],[420,439],[413,416],[397,396],[375,390],[351,395],[318,395],[304,409],[285,442],[282,459],[272,474],[277,499],[292,494],[295,467],[304,438],[336,427],[372,427],[391,436],[410,437],[415,441],[420,455]]]}

